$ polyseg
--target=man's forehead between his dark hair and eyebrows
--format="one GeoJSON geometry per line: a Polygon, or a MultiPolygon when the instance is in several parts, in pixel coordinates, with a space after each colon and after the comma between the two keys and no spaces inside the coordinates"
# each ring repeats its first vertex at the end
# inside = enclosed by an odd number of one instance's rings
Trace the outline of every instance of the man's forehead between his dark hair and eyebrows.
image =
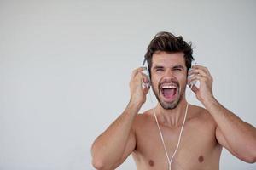
{"type": "Polygon", "coordinates": [[[185,66],[184,54],[179,53],[167,53],[165,51],[159,51],[152,56],[152,66],[173,66],[173,65],[183,65],[185,66]]]}

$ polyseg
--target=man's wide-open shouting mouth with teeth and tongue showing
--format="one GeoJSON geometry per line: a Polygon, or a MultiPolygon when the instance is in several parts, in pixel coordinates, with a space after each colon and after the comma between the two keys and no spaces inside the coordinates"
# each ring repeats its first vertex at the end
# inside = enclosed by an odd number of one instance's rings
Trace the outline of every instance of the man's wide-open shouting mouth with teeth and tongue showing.
{"type": "Polygon", "coordinates": [[[177,96],[177,89],[176,84],[163,84],[160,87],[160,92],[166,101],[172,101],[177,96]]]}

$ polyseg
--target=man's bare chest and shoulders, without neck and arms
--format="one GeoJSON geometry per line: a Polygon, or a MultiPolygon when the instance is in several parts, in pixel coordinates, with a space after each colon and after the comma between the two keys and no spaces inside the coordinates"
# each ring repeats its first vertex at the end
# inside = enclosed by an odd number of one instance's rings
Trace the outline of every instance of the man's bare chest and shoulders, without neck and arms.
{"type": "MultiPolygon", "coordinates": [[[[152,110],[137,115],[134,130],[137,146],[132,156],[137,170],[167,170],[168,161],[152,110]]],[[[177,146],[179,127],[160,124],[169,157],[177,146]]],[[[189,105],[183,135],[172,161],[172,170],[218,170],[222,147],[215,138],[216,123],[201,107],[189,105]]]]}

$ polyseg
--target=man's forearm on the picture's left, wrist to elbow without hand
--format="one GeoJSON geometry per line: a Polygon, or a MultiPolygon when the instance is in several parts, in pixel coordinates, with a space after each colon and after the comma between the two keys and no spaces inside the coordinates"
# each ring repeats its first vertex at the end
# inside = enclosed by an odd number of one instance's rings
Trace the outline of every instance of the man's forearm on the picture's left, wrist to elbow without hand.
{"type": "Polygon", "coordinates": [[[91,148],[93,159],[113,165],[123,155],[132,123],[141,105],[129,102],[125,111],[102,133],[91,148]]]}

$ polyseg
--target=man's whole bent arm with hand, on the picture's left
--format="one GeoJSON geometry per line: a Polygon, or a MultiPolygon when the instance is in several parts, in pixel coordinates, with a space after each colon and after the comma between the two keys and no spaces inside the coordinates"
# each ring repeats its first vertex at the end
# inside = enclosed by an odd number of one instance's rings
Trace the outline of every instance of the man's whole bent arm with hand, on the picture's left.
{"type": "Polygon", "coordinates": [[[92,144],[92,164],[96,169],[119,167],[136,147],[132,124],[148,93],[148,89],[142,88],[142,80],[146,79],[142,71],[138,68],[132,72],[131,99],[125,111],[92,144]]]}

